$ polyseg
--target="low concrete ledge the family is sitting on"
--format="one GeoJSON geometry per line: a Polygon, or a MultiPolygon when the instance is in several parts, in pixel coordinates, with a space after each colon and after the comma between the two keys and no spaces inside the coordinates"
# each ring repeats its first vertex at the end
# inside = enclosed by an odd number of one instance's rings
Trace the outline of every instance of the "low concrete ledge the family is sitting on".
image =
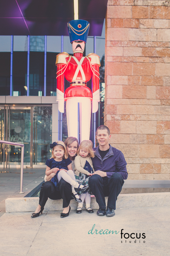
{"type": "MultiPolygon", "coordinates": [[[[91,206],[98,209],[96,198],[91,198],[91,206]]],[[[7,198],[5,200],[6,212],[34,212],[39,203],[39,197],[7,198]]],[[[73,199],[70,202],[72,210],[77,209],[77,202],[73,199]]],[[[107,205],[107,197],[106,197],[107,205]]],[[[160,207],[170,206],[170,192],[165,193],[141,193],[141,194],[120,194],[117,198],[116,208],[135,207],[160,207]]],[[[85,209],[85,208],[84,208],[85,209]]],[[[62,211],[63,200],[48,199],[45,211],[62,211]]]]}

